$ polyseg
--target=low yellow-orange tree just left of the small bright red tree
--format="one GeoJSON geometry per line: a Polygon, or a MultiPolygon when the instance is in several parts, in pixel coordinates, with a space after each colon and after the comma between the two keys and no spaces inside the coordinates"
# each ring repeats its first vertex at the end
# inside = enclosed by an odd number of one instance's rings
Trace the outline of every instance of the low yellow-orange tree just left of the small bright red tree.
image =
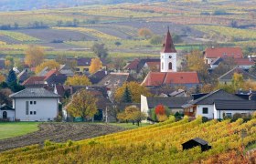
{"type": "Polygon", "coordinates": [[[141,112],[140,108],[129,106],[125,108],[122,113],[119,113],[117,118],[122,120],[132,120],[133,123],[136,122],[137,126],[140,126],[141,121],[146,118],[146,115],[144,112],[141,112]]]}

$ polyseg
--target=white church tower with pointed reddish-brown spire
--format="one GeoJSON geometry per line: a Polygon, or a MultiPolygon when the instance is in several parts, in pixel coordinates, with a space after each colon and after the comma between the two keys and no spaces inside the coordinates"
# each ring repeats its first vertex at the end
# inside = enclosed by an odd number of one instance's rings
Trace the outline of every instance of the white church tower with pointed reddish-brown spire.
{"type": "Polygon", "coordinates": [[[176,72],[176,48],[174,46],[174,42],[169,31],[169,27],[160,55],[161,72],[176,72]]]}

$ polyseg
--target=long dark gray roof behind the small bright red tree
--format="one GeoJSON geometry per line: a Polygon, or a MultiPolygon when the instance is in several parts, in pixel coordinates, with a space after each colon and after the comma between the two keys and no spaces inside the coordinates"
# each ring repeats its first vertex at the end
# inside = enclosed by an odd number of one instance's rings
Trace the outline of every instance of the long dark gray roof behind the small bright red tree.
{"type": "Polygon", "coordinates": [[[191,97],[147,97],[148,108],[155,108],[157,105],[163,105],[167,108],[182,108],[191,97]]]}

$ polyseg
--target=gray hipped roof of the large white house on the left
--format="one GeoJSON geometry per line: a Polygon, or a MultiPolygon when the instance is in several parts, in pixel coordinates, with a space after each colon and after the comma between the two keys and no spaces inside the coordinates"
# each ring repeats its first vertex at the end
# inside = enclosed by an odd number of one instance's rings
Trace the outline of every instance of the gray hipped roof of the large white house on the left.
{"type": "Polygon", "coordinates": [[[9,97],[22,98],[22,97],[60,97],[60,96],[51,91],[48,91],[43,87],[39,87],[39,88],[31,87],[31,88],[26,88],[19,92],[16,92],[10,95],[9,97]]]}

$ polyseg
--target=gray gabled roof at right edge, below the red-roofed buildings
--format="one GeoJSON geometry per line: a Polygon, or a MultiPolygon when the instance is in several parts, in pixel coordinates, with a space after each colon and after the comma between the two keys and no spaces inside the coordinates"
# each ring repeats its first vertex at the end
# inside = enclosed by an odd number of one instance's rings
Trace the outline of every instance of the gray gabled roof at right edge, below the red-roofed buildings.
{"type": "Polygon", "coordinates": [[[224,75],[220,76],[219,77],[219,81],[221,80],[232,80],[233,76],[234,76],[234,73],[238,73],[238,74],[241,74],[243,79],[245,80],[248,80],[248,79],[251,79],[251,80],[256,80],[256,77],[251,75],[249,72],[247,72],[246,70],[240,68],[240,67],[235,67],[231,70],[229,70],[229,72],[225,73],[224,75]]]}

